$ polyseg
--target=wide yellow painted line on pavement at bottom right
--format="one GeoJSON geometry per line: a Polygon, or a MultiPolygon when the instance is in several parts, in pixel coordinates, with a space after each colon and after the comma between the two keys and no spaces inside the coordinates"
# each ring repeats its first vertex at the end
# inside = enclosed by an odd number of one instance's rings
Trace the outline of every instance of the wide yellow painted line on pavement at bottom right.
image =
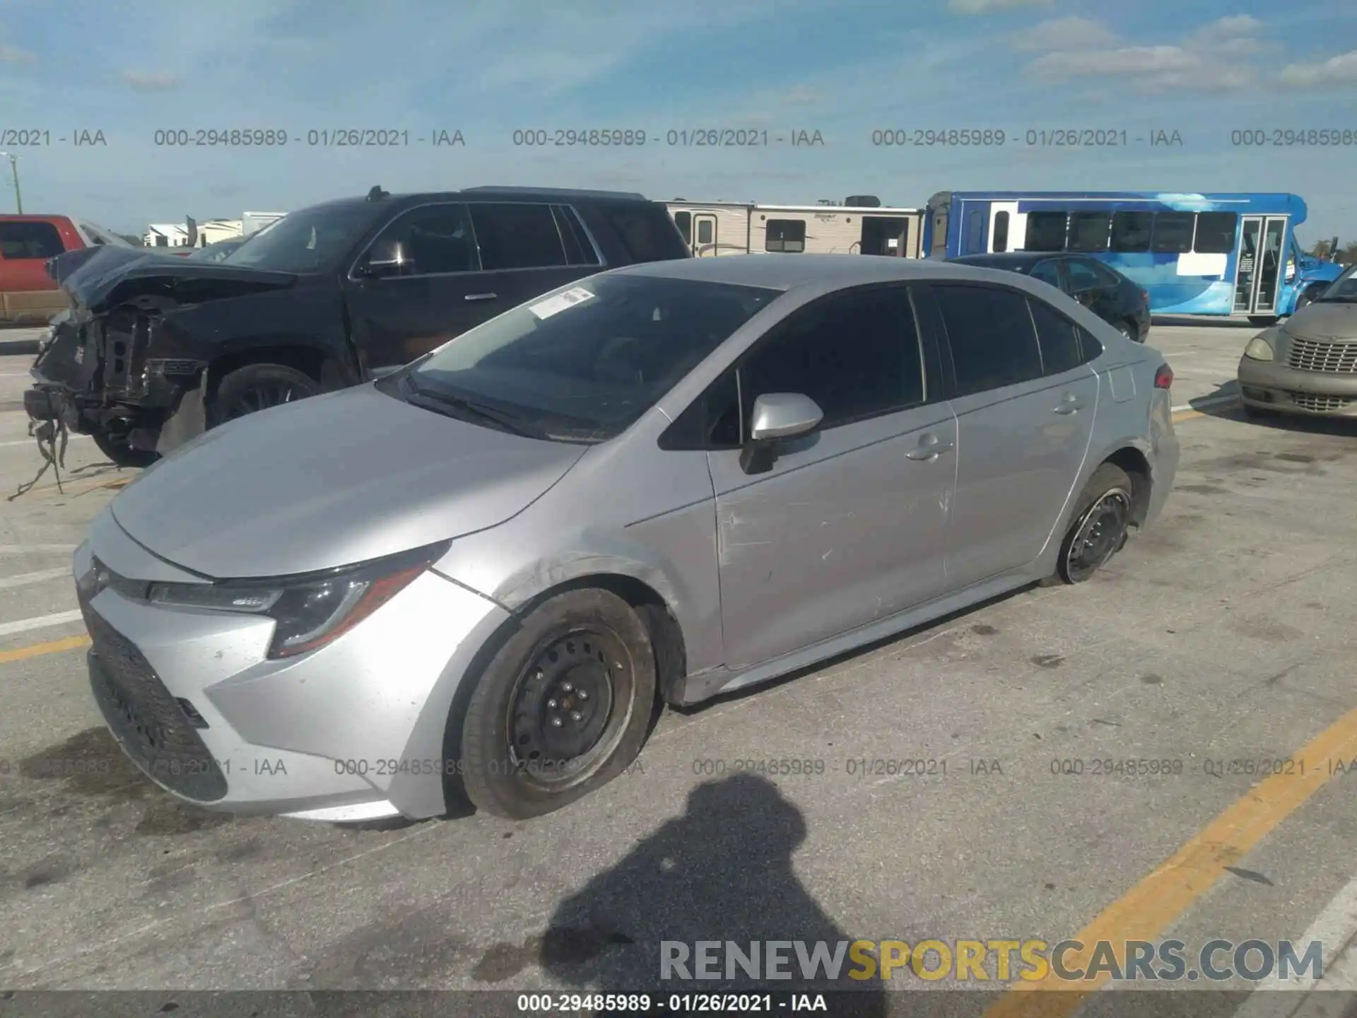
{"type": "MultiPolygon", "coordinates": [[[[1250,848],[1327,782],[1329,764],[1357,756],[1357,709],[1348,711],[1320,732],[1299,753],[1292,755],[1300,774],[1266,778],[1242,799],[1212,820],[1163,862],[1153,873],[1122,894],[1072,938],[1083,950],[1065,953],[1065,968],[1086,969],[1094,946],[1106,941],[1125,970],[1126,941],[1152,941],[1220,880],[1250,848]]],[[[1079,1008],[1084,995],[1107,976],[1077,983],[1054,973],[1033,983],[1019,983],[985,1011],[985,1018],[1067,1018],[1079,1008]],[[1031,991],[1065,991],[1033,995],[1031,991]]]]}

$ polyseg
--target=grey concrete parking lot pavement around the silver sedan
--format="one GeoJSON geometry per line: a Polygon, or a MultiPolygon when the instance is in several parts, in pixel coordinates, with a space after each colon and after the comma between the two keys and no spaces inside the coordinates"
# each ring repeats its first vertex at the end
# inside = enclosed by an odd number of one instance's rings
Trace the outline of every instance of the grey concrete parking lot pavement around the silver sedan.
{"type": "MultiPolygon", "coordinates": [[[[666,939],[1177,938],[1196,960],[1213,939],[1310,938],[1318,988],[1132,991],[1202,1018],[1341,1013],[1334,991],[1357,991],[1357,426],[1246,421],[1234,368],[1255,331],[1156,323],[1177,490],[1098,578],[668,711],[630,775],[525,824],[233,818],[132,770],[87,691],[68,569],[134,471],[73,440],[60,490],[49,471],[0,502],[0,987],[636,992],[658,985],[666,939]],[[779,772],[790,760],[809,764],[779,772]]],[[[7,497],[41,467],[30,361],[0,356],[7,497]]],[[[946,998],[996,1017],[1037,996],[988,975],[906,968],[873,992],[919,1014],[901,991],[1007,989],[946,998]]],[[[1126,988],[1041,995],[1042,1013],[1110,1013],[1126,988]]]]}

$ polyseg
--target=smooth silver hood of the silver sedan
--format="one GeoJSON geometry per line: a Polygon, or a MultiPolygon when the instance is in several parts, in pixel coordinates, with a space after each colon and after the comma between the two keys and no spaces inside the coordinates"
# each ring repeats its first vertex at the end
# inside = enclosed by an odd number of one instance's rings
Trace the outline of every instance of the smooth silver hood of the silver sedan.
{"type": "Polygon", "coordinates": [[[110,512],[195,573],[290,576],[503,523],[586,448],[442,417],[366,384],[206,432],[137,476],[110,512]]]}

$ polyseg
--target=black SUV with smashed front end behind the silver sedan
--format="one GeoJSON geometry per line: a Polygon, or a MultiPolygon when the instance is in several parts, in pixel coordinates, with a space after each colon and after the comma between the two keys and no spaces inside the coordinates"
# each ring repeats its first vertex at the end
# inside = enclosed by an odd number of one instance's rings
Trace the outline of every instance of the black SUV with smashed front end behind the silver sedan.
{"type": "Polygon", "coordinates": [[[616,191],[373,187],[293,212],[221,262],[98,247],[47,273],[24,409],[147,466],[243,414],[356,385],[502,311],[634,262],[689,258],[658,202],[616,191]]]}

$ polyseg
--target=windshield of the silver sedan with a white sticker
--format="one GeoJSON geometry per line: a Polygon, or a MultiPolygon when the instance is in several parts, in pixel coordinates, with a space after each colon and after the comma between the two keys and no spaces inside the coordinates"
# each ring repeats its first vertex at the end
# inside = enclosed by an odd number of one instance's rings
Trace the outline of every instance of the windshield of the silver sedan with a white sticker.
{"type": "Polygon", "coordinates": [[[594,276],[464,333],[415,361],[398,384],[411,402],[470,409],[472,418],[493,415],[535,437],[607,441],[779,296],[594,276]]]}

